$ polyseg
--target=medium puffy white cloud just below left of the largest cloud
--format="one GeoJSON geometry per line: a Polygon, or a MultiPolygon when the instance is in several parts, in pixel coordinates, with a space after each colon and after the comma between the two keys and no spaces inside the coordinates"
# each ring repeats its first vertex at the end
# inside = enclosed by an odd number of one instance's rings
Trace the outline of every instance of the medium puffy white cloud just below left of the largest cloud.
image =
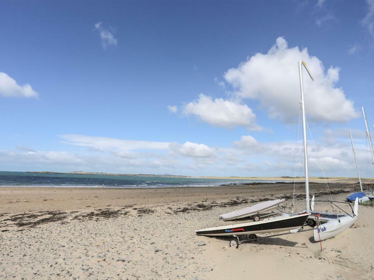
{"type": "Polygon", "coordinates": [[[216,127],[232,129],[237,126],[250,130],[261,130],[256,124],[256,115],[245,104],[234,100],[225,100],[199,95],[199,99],[183,106],[185,115],[196,115],[202,121],[216,127]]]}

